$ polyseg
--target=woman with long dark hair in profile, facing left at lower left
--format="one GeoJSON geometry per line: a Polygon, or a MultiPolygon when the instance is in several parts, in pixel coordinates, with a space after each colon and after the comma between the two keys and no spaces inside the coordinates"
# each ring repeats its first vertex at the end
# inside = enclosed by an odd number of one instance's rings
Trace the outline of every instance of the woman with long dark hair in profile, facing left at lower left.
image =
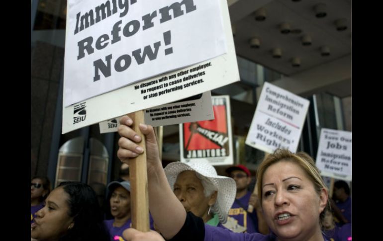
{"type": "Polygon", "coordinates": [[[81,182],[62,182],[31,224],[39,241],[108,241],[95,191],[81,182]]]}

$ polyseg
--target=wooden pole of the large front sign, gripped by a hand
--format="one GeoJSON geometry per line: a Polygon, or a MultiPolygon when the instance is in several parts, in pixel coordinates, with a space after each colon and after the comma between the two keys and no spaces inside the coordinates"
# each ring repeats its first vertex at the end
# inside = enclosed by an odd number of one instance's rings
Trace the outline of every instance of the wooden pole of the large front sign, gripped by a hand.
{"type": "Polygon", "coordinates": [[[144,123],[144,111],[136,111],[129,114],[129,117],[133,120],[133,130],[142,138],[138,145],[144,150],[144,153],[137,158],[129,159],[132,228],[142,232],[149,232],[149,195],[145,136],[138,128],[140,123],[144,123]]]}

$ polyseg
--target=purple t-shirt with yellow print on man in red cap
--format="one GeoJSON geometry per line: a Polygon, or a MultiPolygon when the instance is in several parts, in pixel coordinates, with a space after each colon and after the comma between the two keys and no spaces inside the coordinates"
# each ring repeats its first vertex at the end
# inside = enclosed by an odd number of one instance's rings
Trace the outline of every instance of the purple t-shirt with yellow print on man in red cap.
{"type": "Polygon", "coordinates": [[[252,213],[248,213],[246,210],[249,206],[251,192],[248,191],[245,196],[236,199],[229,210],[229,216],[235,218],[238,224],[247,228],[246,233],[257,233],[258,232],[258,217],[257,212],[254,210],[252,213]],[[246,208],[244,210],[241,205],[246,208]],[[254,220],[254,221],[253,221],[254,220]]]}

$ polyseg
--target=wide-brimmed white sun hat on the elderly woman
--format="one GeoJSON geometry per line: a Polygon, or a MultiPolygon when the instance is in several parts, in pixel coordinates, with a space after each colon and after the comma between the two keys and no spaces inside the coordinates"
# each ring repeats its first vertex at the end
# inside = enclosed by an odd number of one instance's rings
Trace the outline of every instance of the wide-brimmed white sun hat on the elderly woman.
{"type": "Polygon", "coordinates": [[[217,175],[217,171],[207,160],[192,160],[188,163],[180,161],[171,162],[164,170],[172,190],[177,176],[186,170],[198,172],[209,179],[218,190],[217,200],[212,206],[212,210],[218,215],[221,224],[226,223],[229,209],[233,205],[237,192],[237,186],[233,178],[217,175]]]}

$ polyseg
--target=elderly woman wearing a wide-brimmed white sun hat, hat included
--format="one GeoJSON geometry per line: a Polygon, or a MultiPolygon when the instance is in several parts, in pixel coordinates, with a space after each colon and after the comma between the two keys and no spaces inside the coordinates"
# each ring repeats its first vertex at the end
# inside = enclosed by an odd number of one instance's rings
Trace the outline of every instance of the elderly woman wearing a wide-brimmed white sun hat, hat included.
{"type": "Polygon", "coordinates": [[[210,226],[224,227],[236,193],[232,178],[217,175],[206,160],[169,163],[165,174],[187,212],[210,226]]]}

